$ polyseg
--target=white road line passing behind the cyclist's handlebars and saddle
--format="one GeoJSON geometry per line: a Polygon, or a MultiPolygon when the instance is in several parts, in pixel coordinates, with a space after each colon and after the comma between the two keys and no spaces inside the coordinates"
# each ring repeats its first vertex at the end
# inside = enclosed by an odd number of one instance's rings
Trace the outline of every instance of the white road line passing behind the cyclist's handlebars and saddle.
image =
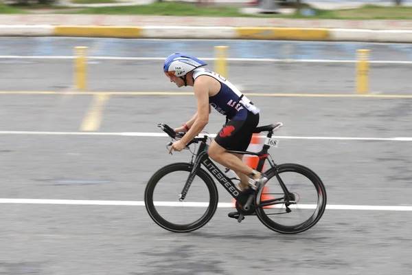
{"type": "MultiPolygon", "coordinates": [[[[168,137],[165,133],[144,133],[144,132],[48,132],[48,131],[0,131],[0,135],[115,135],[130,137],[168,137]]],[[[215,133],[198,135],[198,137],[216,137],[215,133]]],[[[266,138],[266,135],[259,135],[266,138]]],[[[393,142],[412,142],[412,137],[304,137],[293,135],[273,135],[272,138],[284,140],[362,140],[362,141],[393,141],[393,142]]]]}

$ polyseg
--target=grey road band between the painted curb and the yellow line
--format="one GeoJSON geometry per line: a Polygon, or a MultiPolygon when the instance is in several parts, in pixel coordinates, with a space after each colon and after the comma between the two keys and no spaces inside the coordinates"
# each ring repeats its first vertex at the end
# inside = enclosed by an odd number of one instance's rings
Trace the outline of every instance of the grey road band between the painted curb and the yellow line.
{"type": "MultiPolygon", "coordinates": [[[[404,44],[56,38],[2,40],[0,65],[5,69],[0,84],[3,91],[72,89],[75,64],[69,57],[74,47],[87,46],[89,91],[181,91],[165,81],[161,71],[165,56],[185,51],[213,58],[214,45],[229,46],[228,58],[249,58],[231,59],[227,66],[227,78],[245,92],[353,94],[358,49],[371,50],[371,93],[408,94],[412,87],[412,46],[404,44]]],[[[207,63],[214,69],[214,61],[207,63]]]]}

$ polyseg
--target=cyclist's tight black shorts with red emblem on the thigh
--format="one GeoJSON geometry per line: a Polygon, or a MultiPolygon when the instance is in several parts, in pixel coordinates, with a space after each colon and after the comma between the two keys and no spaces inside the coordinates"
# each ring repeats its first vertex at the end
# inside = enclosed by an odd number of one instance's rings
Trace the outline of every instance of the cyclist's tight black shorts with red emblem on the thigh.
{"type": "Polygon", "coordinates": [[[215,141],[226,150],[247,151],[252,140],[253,129],[259,124],[259,113],[247,112],[246,120],[229,120],[215,137],[215,141]]]}

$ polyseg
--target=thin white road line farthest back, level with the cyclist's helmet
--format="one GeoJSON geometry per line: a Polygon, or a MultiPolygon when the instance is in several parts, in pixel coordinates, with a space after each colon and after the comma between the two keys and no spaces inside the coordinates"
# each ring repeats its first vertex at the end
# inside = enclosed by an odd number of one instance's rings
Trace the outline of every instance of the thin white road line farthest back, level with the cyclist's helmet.
{"type": "MultiPolygon", "coordinates": [[[[0,56],[0,59],[73,59],[76,56],[0,56]]],[[[165,57],[127,57],[127,56],[87,56],[95,60],[120,61],[164,61],[165,57]]],[[[204,61],[215,61],[214,57],[200,57],[204,61]]],[[[335,59],[288,59],[288,58],[227,58],[227,61],[240,62],[278,62],[278,63],[356,63],[356,60],[335,59]]],[[[412,64],[412,61],[369,61],[372,64],[412,64]]]]}

